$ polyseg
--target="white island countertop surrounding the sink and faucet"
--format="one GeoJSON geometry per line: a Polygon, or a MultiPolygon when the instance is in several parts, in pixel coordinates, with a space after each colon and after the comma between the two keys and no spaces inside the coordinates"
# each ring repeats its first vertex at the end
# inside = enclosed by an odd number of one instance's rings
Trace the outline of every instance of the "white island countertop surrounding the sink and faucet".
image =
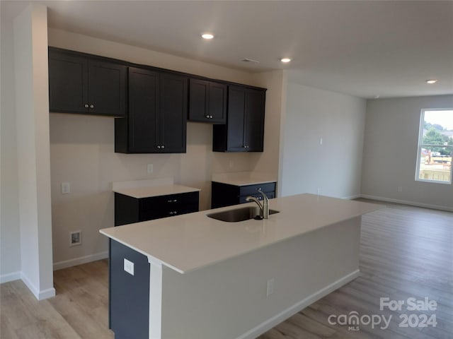
{"type": "Polygon", "coordinates": [[[383,208],[373,203],[300,194],[271,199],[270,208],[280,213],[269,215],[268,220],[223,222],[207,217],[214,211],[253,205],[204,210],[100,232],[179,273],[188,273],[383,208]]]}

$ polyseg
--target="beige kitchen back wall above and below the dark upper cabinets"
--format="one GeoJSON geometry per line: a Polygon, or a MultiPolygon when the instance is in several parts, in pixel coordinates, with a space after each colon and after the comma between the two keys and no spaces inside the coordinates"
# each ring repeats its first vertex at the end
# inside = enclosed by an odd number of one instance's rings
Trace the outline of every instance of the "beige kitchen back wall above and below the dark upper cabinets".
{"type": "MultiPolygon", "coordinates": [[[[250,73],[62,30],[49,30],[49,44],[226,81],[258,83],[250,73]]],[[[57,268],[106,256],[108,242],[98,230],[113,226],[111,182],[174,177],[178,184],[201,189],[200,208],[207,209],[213,173],[253,169],[250,154],[212,152],[209,124],[188,123],[185,154],[115,153],[113,126],[111,117],[50,114],[53,246],[57,268]],[[234,167],[229,167],[230,160],[234,167]],[[149,163],[154,165],[152,174],[147,173],[149,163]],[[61,194],[62,182],[71,183],[71,194],[61,194]],[[82,244],[70,247],[69,232],[75,230],[82,231],[82,244]]]]}

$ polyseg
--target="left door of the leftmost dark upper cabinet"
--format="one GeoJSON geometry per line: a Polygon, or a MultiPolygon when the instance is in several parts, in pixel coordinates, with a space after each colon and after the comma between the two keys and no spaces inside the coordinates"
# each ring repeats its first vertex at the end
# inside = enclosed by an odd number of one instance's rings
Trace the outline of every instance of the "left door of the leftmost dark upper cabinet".
{"type": "Polygon", "coordinates": [[[88,112],[87,83],[88,61],[85,58],[49,50],[50,112],[88,112]]]}

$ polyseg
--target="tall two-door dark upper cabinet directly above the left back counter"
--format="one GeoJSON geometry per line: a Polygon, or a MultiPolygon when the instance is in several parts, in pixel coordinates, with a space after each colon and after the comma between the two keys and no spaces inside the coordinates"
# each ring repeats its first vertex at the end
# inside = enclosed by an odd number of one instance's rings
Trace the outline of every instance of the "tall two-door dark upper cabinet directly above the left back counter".
{"type": "Polygon", "coordinates": [[[129,68],[129,113],[115,119],[115,152],[185,153],[188,78],[129,68]]]}

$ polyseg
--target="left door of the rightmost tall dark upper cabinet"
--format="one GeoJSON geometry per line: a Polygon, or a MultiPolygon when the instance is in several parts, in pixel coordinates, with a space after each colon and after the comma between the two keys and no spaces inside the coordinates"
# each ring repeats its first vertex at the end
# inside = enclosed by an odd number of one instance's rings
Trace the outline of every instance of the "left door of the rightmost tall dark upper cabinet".
{"type": "Polygon", "coordinates": [[[228,90],[228,121],[226,150],[246,151],[244,140],[246,89],[230,86],[228,90]]]}

